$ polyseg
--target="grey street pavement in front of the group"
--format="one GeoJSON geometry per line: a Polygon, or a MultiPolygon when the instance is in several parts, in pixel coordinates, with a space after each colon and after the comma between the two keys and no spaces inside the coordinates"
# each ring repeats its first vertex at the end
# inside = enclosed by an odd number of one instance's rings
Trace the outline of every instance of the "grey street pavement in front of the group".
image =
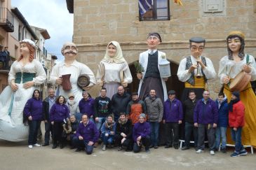
{"type": "Polygon", "coordinates": [[[83,151],[74,153],[67,146],[54,150],[51,147],[29,149],[27,141],[0,140],[0,169],[256,169],[256,155],[248,152],[246,156],[230,157],[234,148],[210,155],[208,150],[198,154],[194,148],[175,150],[161,146],[151,148],[151,153],[133,153],[117,148],[102,151],[98,146],[92,155],[86,155],[83,151]]]}

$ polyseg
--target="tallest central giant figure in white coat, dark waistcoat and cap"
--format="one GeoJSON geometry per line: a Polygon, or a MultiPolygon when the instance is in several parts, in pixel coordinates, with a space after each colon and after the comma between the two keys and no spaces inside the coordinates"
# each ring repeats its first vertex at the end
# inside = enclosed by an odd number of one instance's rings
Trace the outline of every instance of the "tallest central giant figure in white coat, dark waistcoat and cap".
{"type": "Polygon", "coordinates": [[[159,72],[159,61],[166,59],[166,53],[157,50],[161,42],[161,36],[158,33],[149,33],[147,36],[148,50],[140,53],[139,62],[142,64],[144,72],[137,73],[137,78],[140,79],[138,94],[142,100],[149,95],[151,89],[156,90],[162,103],[168,99],[166,91],[168,78],[161,78],[159,72]]]}

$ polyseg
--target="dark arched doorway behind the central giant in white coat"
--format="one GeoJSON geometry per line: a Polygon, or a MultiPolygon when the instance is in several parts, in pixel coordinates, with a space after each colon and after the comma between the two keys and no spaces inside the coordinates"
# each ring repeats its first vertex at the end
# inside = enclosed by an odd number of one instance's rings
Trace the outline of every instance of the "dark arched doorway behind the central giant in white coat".
{"type": "MultiPolygon", "coordinates": [[[[184,83],[182,83],[177,78],[177,69],[178,69],[179,65],[176,64],[175,62],[170,61],[169,59],[168,59],[168,61],[170,62],[170,73],[172,76],[170,76],[170,78],[168,78],[168,81],[166,82],[167,92],[169,90],[175,90],[177,99],[180,99],[182,97],[182,92],[184,90],[184,83]]],[[[136,70],[135,70],[135,66],[133,63],[129,64],[129,68],[130,68],[130,73],[133,76],[133,83],[130,83],[128,85],[127,91],[128,92],[137,92],[137,90],[139,88],[140,80],[137,79],[136,70]]]]}

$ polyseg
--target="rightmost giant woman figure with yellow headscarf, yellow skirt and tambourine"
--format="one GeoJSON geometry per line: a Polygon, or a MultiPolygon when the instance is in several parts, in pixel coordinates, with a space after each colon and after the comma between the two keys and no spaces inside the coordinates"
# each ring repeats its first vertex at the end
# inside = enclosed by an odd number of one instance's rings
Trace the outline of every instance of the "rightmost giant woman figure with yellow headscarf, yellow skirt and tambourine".
{"type": "MultiPolygon", "coordinates": [[[[232,92],[240,91],[240,99],[245,106],[242,143],[256,147],[256,97],[250,85],[250,81],[256,80],[256,63],[252,55],[245,54],[244,48],[245,35],[241,31],[231,31],[227,36],[228,55],[220,59],[218,76],[228,101],[232,92]],[[234,83],[236,85],[233,86],[234,83]]],[[[231,139],[227,139],[229,143],[231,139]]]]}

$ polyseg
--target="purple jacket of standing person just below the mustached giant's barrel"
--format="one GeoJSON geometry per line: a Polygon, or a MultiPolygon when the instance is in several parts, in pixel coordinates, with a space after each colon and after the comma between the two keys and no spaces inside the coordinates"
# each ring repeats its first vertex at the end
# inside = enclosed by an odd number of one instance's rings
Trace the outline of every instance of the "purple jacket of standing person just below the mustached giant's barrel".
{"type": "Polygon", "coordinates": [[[88,115],[88,118],[90,118],[91,115],[94,115],[94,99],[88,98],[86,101],[85,99],[81,99],[79,101],[79,110],[80,113],[84,114],[86,113],[88,115]]]}

